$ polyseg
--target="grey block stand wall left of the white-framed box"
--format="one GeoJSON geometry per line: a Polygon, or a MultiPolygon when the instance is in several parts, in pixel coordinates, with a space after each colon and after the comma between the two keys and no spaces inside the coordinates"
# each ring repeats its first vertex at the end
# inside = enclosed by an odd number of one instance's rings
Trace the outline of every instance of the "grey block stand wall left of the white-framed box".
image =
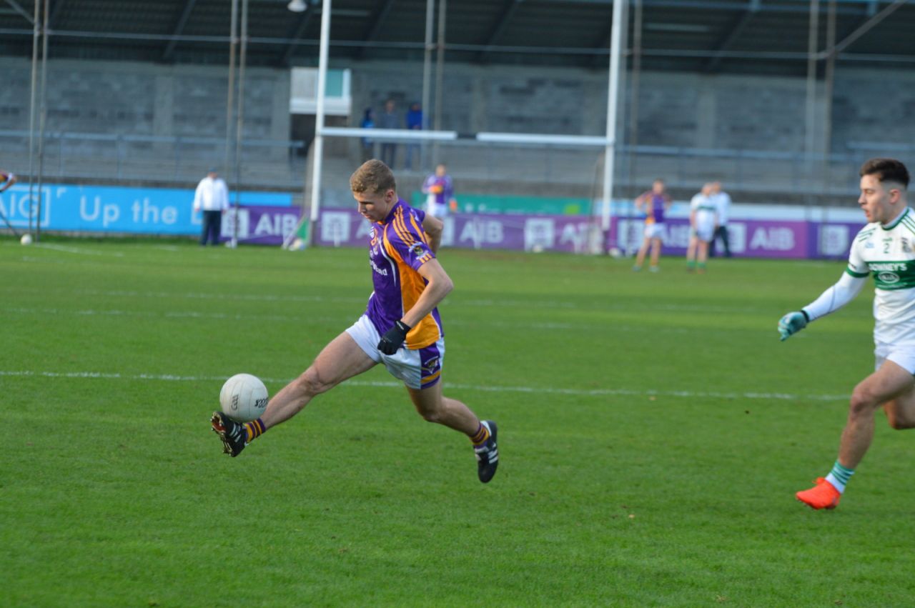
{"type": "MultiPolygon", "coordinates": [[[[0,129],[28,128],[31,63],[0,59],[0,129]]],[[[224,138],[228,69],[115,61],[48,61],[50,133],[224,138]]],[[[244,136],[289,138],[289,74],[248,69],[244,136]]],[[[234,120],[232,121],[234,129],[234,120]]],[[[87,143],[88,145],[88,143],[87,143]]]]}

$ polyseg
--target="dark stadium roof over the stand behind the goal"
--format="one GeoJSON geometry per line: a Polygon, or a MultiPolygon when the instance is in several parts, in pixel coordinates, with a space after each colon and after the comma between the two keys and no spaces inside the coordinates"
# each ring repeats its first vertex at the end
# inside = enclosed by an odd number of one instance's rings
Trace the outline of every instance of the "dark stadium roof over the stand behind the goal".
{"type": "MultiPolygon", "coordinates": [[[[294,13],[288,0],[248,0],[249,65],[317,64],[322,2],[304,1],[308,9],[294,13]]],[[[812,1],[819,59],[827,55],[833,6],[843,65],[915,63],[915,4],[906,0],[630,0],[628,47],[640,49],[641,69],[802,75],[812,1]]],[[[50,59],[229,58],[232,0],[49,5],[50,59]]],[[[0,0],[0,55],[31,56],[34,7],[34,0],[0,0]]],[[[334,0],[331,61],[423,59],[426,7],[427,0],[334,0]]],[[[446,60],[606,69],[611,13],[612,0],[447,0],[446,60]]],[[[437,27],[436,18],[433,36],[437,27]]]]}

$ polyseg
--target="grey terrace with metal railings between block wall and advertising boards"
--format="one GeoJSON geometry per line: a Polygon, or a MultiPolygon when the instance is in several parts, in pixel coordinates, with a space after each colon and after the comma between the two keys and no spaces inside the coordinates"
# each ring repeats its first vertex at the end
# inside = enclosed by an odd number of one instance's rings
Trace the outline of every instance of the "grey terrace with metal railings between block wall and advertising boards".
{"type": "MultiPolygon", "coordinates": [[[[380,156],[381,139],[371,154],[380,156]]],[[[418,187],[431,166],[419,158],[446,162],[464,191],[520,196],[597,198],[603,151],[568,145],[498,144],[458,139],[436,144],[435,155],[414,155],[404,165],[406,146],[396,143],[393,168],[405,187],[418,187]]],[[[0,131],[0,166],[27,178],[27,131],[0,131]]],[[[36,144],[37,148],[37,144],[36,144]]],[[[233,151],[232,151],[233,153],[233,151]]],[[[362,158],[358,138],[326,153],[325,187],[346,190],[347,178],[362,158]]],[[[227,158],[225,140],[100,133],[47,133],[42,179],[150,186],[193,184],[211,166],[242,189],[301,192],[307,186],[310,150],[303,141],[245,140],[236,165],[227,158]]],[[[857,170],[867,158],[896,155],[915,159],[915,145],[850,144],[843,153],[804,155],[761,150],[703,149],[673,146],[620,146],[616,196],[647,187],[655,177],[673,189],[697,190],[705,181],[721,180],[728,189],[771,199],[802,202],[805,197],[847,197],[856,192],[857,170]],[[755,194],[754,194],[755,193],[755,194]]],[[[231,157],[231,155],[229,156],[231,157]]],[[[428,161],[427,161],[428,162],[428,161]]],[[[38,163],[34,165],[38,174],[38,163]]]]}

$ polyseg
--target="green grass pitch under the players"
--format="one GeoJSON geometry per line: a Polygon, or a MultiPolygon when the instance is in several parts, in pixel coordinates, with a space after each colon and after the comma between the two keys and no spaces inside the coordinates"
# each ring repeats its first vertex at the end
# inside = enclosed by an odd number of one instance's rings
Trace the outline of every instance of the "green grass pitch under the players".
{"type": "Polygon", "coordinates": [[[271,393],[361,314],[362,250],[0,240],[0,604],[899,606],[915,596],[915,433],[832,465],[873,368],[868,289],[780,343],[834,261],[441,251],[446,394],[468,440],[382,368],[239,458],[222,381],[271,393]]]}

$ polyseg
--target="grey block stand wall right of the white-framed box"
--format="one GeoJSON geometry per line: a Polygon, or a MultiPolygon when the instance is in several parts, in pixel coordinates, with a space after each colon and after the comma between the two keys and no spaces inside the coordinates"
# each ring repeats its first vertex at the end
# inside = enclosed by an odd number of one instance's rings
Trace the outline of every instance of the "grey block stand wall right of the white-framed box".
{"type": "MultiPolygon", "coordinates": [[[[380,112],[389,97],[402,112],[410,101],[422,97],[420,63],[361,62],[335,67],[353,70],[352,123],[358,123],[365,107],[380,112]]],[[[605,132],[607,73],[603,71],[446,64],[445,89],[444,129],[465,133],[605,132]]],[[[814,149],[822,150],[822,82],[816,95],[814,149]]],[[[644,72],[638,95],[638,143],[802,152],[806,100],[803,78],[644,72]]],[[[629,112],[629,106],[630,96],[625,92],[620,97],[622,112],[629,112]]],[[[882,141],[883,135],[875,133],[879,128],[892,129],[888,133],[891,141],[915,141],[912,119],[915,72],[837,70],[834,151],[844,151],[848,142],[882,141]]],[[[623,120],[628,123],[628,114],[623,120]]]]}

